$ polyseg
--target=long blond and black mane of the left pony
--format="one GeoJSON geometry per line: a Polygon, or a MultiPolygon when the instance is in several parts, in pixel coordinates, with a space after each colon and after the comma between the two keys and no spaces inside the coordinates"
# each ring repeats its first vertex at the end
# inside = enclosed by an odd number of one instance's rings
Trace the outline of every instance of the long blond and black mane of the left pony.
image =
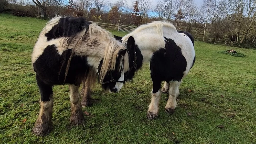
{"type": "MultiPolygon", "coordinates": [[[[85,37],[92,41],[93,39],[91,37],[96,35],[101,36],[103,40],[106,41],[103,64],[99,76],[100,82],[103,81],[107,71],[115,69],[116,58],[119,50],[126,49],[125,45],[116,40],[109,31],[106,31],[95,23],[86,21],[83,17],[54,17],[46,23],[46,27],[44,29],[47,27],[52,27],[54,37],[64,37],[62,46],[66,45],[66,49],[69,46],[72,47],[72,53],[66,67],[65,79],[75,50],[85,37]]],[[[122,69],[124,71],[129,71],[129,55],[126,53],[123,58],[124,59],[120,61],[119,71],[122,69]]]]}

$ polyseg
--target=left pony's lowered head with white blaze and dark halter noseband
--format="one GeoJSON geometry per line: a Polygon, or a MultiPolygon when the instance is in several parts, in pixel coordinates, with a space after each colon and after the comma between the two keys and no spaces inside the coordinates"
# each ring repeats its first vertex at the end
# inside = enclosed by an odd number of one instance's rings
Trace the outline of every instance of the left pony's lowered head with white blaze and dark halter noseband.
{"type": "MultiPolygon", "coordinates": [[[[124,74],[128,72],[129,69],[124,68],[125,61],[128,61],[127,49],[121,49],[118,51],[116,60],[115,60],[115,68],[106,72],[101,84],[102,88],[105,91],[109,91],[110,93],[119,92],[123,86],[124,74]]],[[[102,69],[103,60],[100,61],[98,67],[98,74],[100,75],[100,71],[102,69]]]]}

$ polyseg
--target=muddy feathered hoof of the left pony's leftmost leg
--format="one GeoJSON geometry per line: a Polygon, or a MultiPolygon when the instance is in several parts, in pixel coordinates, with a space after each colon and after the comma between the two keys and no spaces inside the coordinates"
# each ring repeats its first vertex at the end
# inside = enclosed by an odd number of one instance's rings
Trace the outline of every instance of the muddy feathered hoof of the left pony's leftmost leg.
{"type": "Polygon", "coordinates": [[[46,136],[50,133],[51,129],[52,129],[51,119],[48,121],[42,121],[40,119],[36,121],[32,129],[32,133],[38,137],[46,136]]]}

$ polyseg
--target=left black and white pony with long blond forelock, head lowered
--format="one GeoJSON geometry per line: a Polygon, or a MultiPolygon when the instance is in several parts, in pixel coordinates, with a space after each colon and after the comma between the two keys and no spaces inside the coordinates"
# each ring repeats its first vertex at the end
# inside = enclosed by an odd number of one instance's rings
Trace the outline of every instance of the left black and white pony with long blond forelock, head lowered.
{"type": "Polygon", "coordinates": [[[54,85],[69,84],[70,122],[77,126],[83,123],[78,93],[81,82],[90,88],[98,75],[105,90],[118,92],[123,84],[120,77],[129,71],[125,45],[84,18],[52,18],[41,31],[31,60],[41,93],[41,108],[33,128],[37,136],[48,134],[52,128],[54,85]]]}

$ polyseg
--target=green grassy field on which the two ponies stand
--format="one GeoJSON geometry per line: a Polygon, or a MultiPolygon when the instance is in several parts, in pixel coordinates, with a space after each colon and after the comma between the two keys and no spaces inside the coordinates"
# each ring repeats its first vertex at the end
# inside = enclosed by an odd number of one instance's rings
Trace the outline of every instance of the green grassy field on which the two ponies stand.
{"type": "MultiPolygon", "coordinates": [[[[152,82],[148,64],[119,93],[93,90],[83,125],[71,127],[67,85],[54,87],[53,130],[31,133],[39,113],[39,90],[31,52],[46,23],[0,14],[0,143],[255,143],[256,51],[195,42],[196,62],[180,86],[176,112],[147,120],[152,82]],[[235,49],[246,57],[217,51],[235,49]],[[191,90],[191,91],[190,91],[191,90]]],[[[125,33],[111,31],[122,36],[125,33]]]]}

